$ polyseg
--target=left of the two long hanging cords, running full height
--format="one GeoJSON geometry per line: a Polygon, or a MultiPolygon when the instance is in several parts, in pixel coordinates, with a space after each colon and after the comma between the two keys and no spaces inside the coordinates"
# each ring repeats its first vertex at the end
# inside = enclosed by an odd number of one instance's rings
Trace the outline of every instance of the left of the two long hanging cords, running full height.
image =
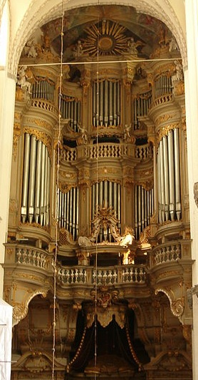
{"type": "Polygon", "coordinates": [[[55,347],[56,347],[56,264],[58,254],[58,198],[59,198],[59,166],[60,166],[60,149],[61,149],[61,96],[63,81],[63,27],[64,27],[64,0],[62,3],[62,20],[61,20],[61,63],[60,63],[60,80],[58,94],[58,137],[57,137],[57,166],[56,166],[56,246],[54,255],[54,273],[53,273],[53,349],[52,349],[52,380],[54,379],[55,368],[55,347]]]}

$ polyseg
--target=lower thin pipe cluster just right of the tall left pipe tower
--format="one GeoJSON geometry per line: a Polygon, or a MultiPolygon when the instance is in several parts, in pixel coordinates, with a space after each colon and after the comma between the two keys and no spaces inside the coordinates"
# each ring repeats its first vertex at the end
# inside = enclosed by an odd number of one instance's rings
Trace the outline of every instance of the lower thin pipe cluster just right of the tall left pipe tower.
{"type": "Polygon", "coordinates": [[[79,229],[79,188],[71,188],[68,192],[58,190],[58,225],[65,228],[73,236],[78,237],[79,229]]]}

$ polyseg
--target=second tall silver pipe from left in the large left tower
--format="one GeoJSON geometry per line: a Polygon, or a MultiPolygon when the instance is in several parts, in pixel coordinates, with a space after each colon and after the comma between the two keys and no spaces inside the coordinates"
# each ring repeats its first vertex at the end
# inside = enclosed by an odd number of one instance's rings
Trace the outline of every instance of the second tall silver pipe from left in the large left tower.
{"type": "Polygon", "coordinates": [[[33,221],[33,203],[34,203],[34,190],[35,190],[35,170],[36,170],[36,137],[31,135],[31,149],[30,149],[30,168],[29,168],[29,181],[28,181],[28,221],[33,221]]]}

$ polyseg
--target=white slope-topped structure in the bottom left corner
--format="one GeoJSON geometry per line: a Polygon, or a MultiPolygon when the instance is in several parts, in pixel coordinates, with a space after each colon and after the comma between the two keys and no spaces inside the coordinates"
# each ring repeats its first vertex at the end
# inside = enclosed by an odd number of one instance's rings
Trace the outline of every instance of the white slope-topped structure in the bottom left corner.
{"type": "Polygon", "coordinates": [[[0,299],[0,379],[10,380],[11,375],[12,307],[0,299]]]}

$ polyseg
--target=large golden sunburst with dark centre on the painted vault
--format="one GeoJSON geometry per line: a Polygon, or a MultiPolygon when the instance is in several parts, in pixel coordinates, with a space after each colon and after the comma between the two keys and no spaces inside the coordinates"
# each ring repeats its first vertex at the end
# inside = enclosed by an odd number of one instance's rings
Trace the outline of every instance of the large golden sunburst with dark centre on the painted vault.
{"type": "Polygon", "coordinates": [[[85,29],[83,53],[90,56],[116,56],[127,51],[128,37],[125,26],[110,20],[103,20],[99,26],[93,24],[85,29]]]}

